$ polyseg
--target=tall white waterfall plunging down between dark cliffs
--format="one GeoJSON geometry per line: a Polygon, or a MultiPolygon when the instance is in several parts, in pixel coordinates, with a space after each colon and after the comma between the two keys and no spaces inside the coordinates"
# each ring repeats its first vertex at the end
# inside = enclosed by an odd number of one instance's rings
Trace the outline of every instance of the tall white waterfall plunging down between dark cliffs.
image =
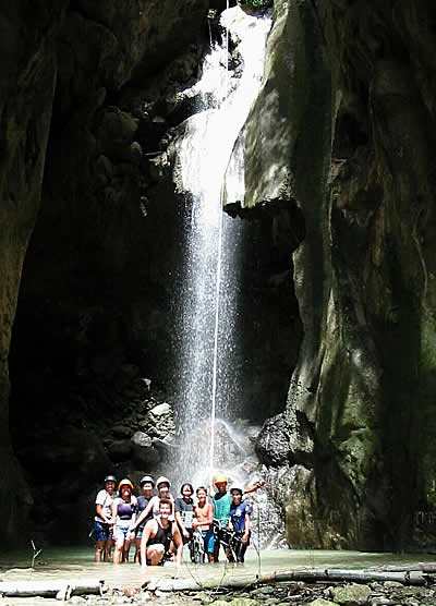
{"type": "MultiPolygon", "coordinates": [[[[223,11],[226,32],[240,40],[240,77],[228,68],[228,36],[205,58],[193,94],[198,113],[184,123],[178,145],[178,190],[190,201],[185,217],[183,288],[178,330],[175,392],[179,410],[179,477],[207,482],[222,444],[215,415],[232,421],[238,399],[239,251],[243,226],[222,211],[226,168],[259,89],[270,16],[223,11]]],[[[220,424],[220,431],[226,423],[220,424]]],[[[222,438],[222,436],[221,436],[222,438]]],[[[219,462],[219,459],[218,459],[219,462]]]]}

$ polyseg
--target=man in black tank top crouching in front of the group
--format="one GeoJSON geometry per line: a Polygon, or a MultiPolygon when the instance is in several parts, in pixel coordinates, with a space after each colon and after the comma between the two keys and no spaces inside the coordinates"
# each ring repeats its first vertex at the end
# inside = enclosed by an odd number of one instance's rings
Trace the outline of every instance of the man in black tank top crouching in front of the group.
{"type": "Polygon", "coordinates": [[[175,548],[177,574],[182,563],[183,541],[177,522],[169,520],[171,511],[172,502],[162,498],[159,501],[159,516],[145,524],[141,540],[141,566],[159,566],[164,565],[165,560],[172,559],[172,542],[175,548]]]}

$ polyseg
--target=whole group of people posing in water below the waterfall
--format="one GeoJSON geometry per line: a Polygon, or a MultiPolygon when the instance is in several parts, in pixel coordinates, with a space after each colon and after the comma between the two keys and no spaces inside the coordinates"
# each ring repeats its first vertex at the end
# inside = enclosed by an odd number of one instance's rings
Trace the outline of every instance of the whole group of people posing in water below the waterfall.
{"type": "Polygon", "coordinates": [[[242,489],[232,486],[228,493],[225,474],[214,477],[215,490],[210,486],[192,484],[181,486],[181,496],[170,494],[168,477],[160,476],[156,483],[150,475],[141,478],[141,495],[133,494],[133,483],[123,478],[118,484],[113,475],[105,477],[105,488],[96,497],[94,536],[95,559],[110,561],[113,547],[113,563],[129,561],[132,543],[135,545],[134,561],[143,567],[175,561],[180,567],[183,545],[201,533],[203,550],[210,563],[217,562],[220,545],[226,548],[229,561],[244,561],[251,534],[251,506],[243,500],[245,493],[261,488],[263,480],[242,489]],[[154,495],[156,487],[157,495],[154,495]],[[228,536],[231,535],[231,548],[228,536]]]}

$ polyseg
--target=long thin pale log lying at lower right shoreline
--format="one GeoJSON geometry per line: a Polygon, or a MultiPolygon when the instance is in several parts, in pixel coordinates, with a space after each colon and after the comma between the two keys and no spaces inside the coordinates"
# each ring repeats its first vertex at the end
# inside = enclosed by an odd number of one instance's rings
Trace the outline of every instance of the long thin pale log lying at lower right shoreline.
{"type": "Polygon", "coordinates": [[[397,581],[403,585],[425,585],[427,578],[421,570],[407,571],[377,571],[377,570],[350,570],[340,568],[304,568],[296,570],[275,571],[270,574],[250,574],[225,577],[221,579],[162,579],[152,581],[146,584],[146,589],[150,591],[201,591],[213,589],[243,589],[268,583],[284,583],[290,581],[303,581],[305,583],[315,583],[319,581],[339,583],[371,583],[378,581],[397,581]]]}

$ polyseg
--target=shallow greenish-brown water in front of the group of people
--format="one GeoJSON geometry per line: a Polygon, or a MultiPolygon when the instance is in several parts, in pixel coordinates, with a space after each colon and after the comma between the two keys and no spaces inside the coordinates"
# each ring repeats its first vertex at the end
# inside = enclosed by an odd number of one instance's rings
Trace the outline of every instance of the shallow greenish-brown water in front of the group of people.
{"type": "MultiPolygon", "coordinates": [[[[109,586],[140,586],[144,581],[144,572],[138,565],[132,562],[113,566],[112,563],[96,563],[90,548],[58,548],[44,549],[32,569],[32,550],[19,553],[3,553],[0,555],[0,579],[3,581],[40,581],[87,580],[98,582],[105,580],[109,586]]],[[[223,555],[221,554],[221,559],[223,555]]],[[[133,553],[131,553],[133,560],[133,553]]],[[[416,561],[434,561],[429,554],[390,554],[365,553],[347,550],[263,550],[259,554],[253,547],[249,548],[243,568],[231,568],[223,561],[217,565],[193,565],[187,553],[183,558],[179,578],[219,579],[223,574],[229,577],[241,573],[267,574],[276,570],[287,570],[304,567],[325,568],[367,568],[372,566],[404,565],[416,561]]],[[[171,578],[174,570],[169,567],[148,567],[147,578],[171,578]]],[[[49,602],[46,599],[45,604],[49,602]]],[[[28,604],[28,602],[27,602],[28,604]]]]}

